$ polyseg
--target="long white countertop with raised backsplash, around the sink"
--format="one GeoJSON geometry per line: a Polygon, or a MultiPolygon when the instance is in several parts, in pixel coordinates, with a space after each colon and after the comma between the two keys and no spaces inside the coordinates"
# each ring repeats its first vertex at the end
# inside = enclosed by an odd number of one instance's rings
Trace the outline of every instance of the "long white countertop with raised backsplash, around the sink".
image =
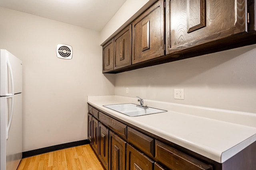
{"type": "Polygon", "coordinates": [[[172,143],[223,163],[256,141],[256,113],[188,106],[153,100],[144,105],[168,110],[130,117],[103,105],[137,104],[137,98],[88,96],[87,102],[172,143]]]}

